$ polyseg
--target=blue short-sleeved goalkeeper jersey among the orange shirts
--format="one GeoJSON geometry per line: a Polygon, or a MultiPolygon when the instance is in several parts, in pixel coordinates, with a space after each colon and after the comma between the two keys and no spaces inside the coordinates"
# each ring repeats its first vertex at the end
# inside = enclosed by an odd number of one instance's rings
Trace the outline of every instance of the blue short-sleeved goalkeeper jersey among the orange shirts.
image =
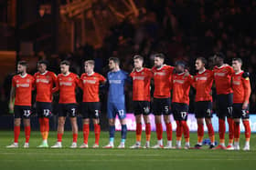
{"type": "Polygon", "coordinates": [[[109,72],[107,75],[107,84],[109,87],[108,102],[109,103],[124,103],[124,85],[125,82],[130,82],[128,73],[123,70],[117,72],[109,72]]]}

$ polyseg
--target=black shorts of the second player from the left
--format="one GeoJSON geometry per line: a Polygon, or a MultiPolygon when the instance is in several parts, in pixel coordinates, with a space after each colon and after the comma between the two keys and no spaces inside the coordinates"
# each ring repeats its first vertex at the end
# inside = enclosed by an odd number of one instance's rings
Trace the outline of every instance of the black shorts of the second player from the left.
{"type": "Polygon", "coordinates": [[[39,117],[49,117],[51,115],[51,103],[37,102],[36,113],[39,117]]]}

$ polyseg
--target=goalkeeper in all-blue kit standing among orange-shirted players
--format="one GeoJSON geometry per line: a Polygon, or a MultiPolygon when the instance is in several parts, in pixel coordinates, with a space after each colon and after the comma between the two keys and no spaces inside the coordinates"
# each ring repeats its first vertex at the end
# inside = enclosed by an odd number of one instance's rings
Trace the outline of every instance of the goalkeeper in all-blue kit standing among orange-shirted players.
{"type": "Polygon", "coordinates": [[[121,143],[118,148],[125,147],[125,140],[127,134],[127,125],[125,121],[126,109],[125,109],[125,94],[124,86],[129,82],[129,75],[120,69],[120,60],[116,57],[109,59],[110,72],[107,75],[108,89],[108,102],[107,102],[107,115],[110,125],[110,142],[103,148],[114,147],[114,134],[115,134],[115,117],[118,115],[120,123],[122,125],[121,130],[121,143]]]}

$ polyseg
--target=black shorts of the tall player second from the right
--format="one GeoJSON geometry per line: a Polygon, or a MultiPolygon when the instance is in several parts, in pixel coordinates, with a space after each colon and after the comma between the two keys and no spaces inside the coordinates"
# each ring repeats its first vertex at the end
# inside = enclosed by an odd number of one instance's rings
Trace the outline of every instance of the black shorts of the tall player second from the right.
{"type": "Polygon", "coordinates": [[[216,111],[220,118],[232,117],[233,94],[217,95],[216,111]]]}

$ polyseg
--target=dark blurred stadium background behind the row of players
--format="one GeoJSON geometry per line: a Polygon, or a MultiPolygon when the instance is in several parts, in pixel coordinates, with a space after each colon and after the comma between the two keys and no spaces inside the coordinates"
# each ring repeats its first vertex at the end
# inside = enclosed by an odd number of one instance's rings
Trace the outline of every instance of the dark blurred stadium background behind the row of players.
{"type": "MultiPolygon", "coordinates": [[[[10,126],[8,100],[18,60],[27,60],[28,73],[34,74],[37,61],[47,59],[48,69],[58,74],[59,62],[67,59],[71,71],[81,75],[83,61],[94,59],[95,71],[106,75],[110,56],[119,57],[123,70],[131,72],[133,55],[143,55],[151,67],[153,55],[161,52],[168,65],[186,61],[193,75],[197,56],[221,51],[227,64],[240,57],[251,73],[251,114],[256,113],[255,18],[253,0],[0,0],[0,128],[10,126]]],[[[194,94],[191,89],[192,113],[194,94]]],[[[126,98],[133,112],[129,85],[126,98]]],[[[104,91],[101,101],[102,123],[104,91]]]]}

